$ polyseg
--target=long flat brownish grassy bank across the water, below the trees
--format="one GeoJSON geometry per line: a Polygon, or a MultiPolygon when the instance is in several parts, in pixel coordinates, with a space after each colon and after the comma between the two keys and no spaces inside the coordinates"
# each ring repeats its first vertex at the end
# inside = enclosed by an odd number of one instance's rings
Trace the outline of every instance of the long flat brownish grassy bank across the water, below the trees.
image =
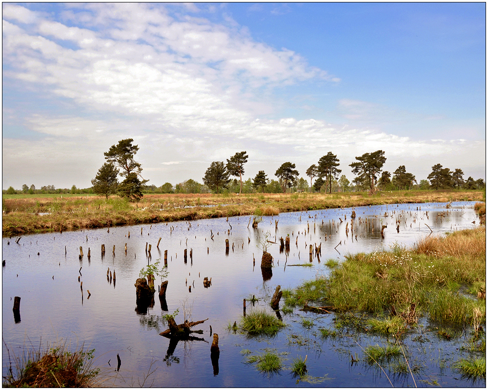
{"type": "Polygon", "coordinates": [[[137,203],[101,196],[2,195],[2,234],[172,222],[236,215],[392,203],[482,200],[483,191],[393,191],[342,194],[147,194],[137,203]]]}

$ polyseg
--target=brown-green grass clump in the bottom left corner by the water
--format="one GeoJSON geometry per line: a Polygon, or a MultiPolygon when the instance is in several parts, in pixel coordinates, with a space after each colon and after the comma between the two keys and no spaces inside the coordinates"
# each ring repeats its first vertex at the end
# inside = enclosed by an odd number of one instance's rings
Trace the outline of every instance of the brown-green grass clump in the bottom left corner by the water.
{"type": "MultiPolygon", "coordinates": [[[[5,343],[4,343],[5,345],[5,343]]],[[[82,345],[74,352],[66,342],[45,351],[30,348],[21,356],[8,353],[9,366],[3,376],[3,387],[99,387],[100,369],[93,367],[95,350],[85,350],[82,345]],[[12,361],[13,360],[13,361],[12,361]]]]}

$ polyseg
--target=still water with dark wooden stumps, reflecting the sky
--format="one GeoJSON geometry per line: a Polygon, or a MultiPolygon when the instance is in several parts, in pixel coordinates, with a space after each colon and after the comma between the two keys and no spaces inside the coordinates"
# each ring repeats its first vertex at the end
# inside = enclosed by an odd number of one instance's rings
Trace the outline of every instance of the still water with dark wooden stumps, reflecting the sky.
{"type": "MultiPolygon", "coordinates": [[[[457,202],[447,209],[445,203],[401,204],[282,213],[263,217],[258,229],[252,229],[251,224],[248,226],[249,217],[241,216],[229,217],[228,221],[218,218],[112,227],[109,231],[32,234],[23,236],[18,244],[16,237],[3,237],[2,337],[10,353],[17,355],[28,347],[60,339],[68,340],[73,348],[84,343],[85,348],[95,349],[95,364],[106,368],[105,374],[110,374],[105,386],[142,385],[148,370],[155,369],[144,386],[390,386],[381,370],[364,362],[361,350],[368,345],[381,345],[385,338],[351,331],[344,337],[323,339],[318,329],[332,329],[334,314],[306,314],[298,310],[281,314],[287,327],[271,339],[247,338],[229,331],[228,325],[234,321],[239,323],[243,299],[252,295],[259,298],[254,309],[265,308],[273,313],[269,302],[276,286],[293,289],[317,275],[327,275],[329,269],[324,265],[327,259],[342,262],[345,254],[388,249],[395,243],[410,247],[420,237],[430,234],[430,230],[434,234],[445,234],[478,226],[473,205],[474,202],[457,202]],[[352,210],[356,213],[353,221],[352,210]],[[383,239],[382,225],[387,226],[383,239]],[[271,278],[264,280],[260,268],[264,237],[268,235],[269,241],[279,243],[280,237],[288,234],[289,254],[280,253],[279,244],[270,244],[268,252],[274,257],[274,267],[271,278]],[[225,254],[225,239],[230,243],[228,255],[225,254]],[[152,245],[150,254],[145,251],[146,243],[152,245]],[[104,256],[102,244],[106,248],[104,256]],[[290,267],[309,262],[310,244],[322,244],[321,262],[314,257],[313,267],[290,267]],[[114,245],[115,252],[112,252],[114,245]],[[80,246],[84,254],[81,259],[80,246]],[[184,249],[188,253],[186,262],[184,249]],[[134,283],[148,263],[161,259],[163,264],[165,250],[168,251],[169,271],[167,311],[163,310],[166,307],[162,308],[156,294],[154,307],[146,314],[139,314],[135,310],[134,283]],[[116,272],[115,283],[107,280],[107,268],[116,272]],[[209,288],[203,286],[204,277],[212,278],[209,288]],[[17,323],[12,313],[14,296],[21,297],[20,322],[17,323]],[[208,318],[194,328],[203,330],[203,334],[195,334],[198,340],[170,344],[169,339],[159,335],[167,328],[163,315],[172,314],[176,309],[180,312],[177,323],[183,322],[185,311],[190,321],[208,318]],[[304,317],[313,319],[315,326],[305,329],[302,326],[304,317]],[[211,332],[219,334],[221,352],[217,370],[210,359],[211,332]],[[274,375],[262,374],[254,365],[245,364],[244,350],[253,354],[276,352],[283,359],[284,369],[274,375]],[[122,360],[119,372],[115,370],[117,353],[122,360]],[[357,354],[358,363],[351,365],[351,354],[357,354]],[[289,368],[294,358],[305,358],[305,355],[309,375],[322,379],[315,384],[301,382],[297,385],[289,368]]],[[[158,279],[156,283],[160,284],[158,279]]],[[[248,301],[247,313],[252,310],[248,301]]],[[[406,342],[415,336],[418,334],[407,336],[406,342]]],[[[422,351],[418,356],[411,356],[423,365],[415,375],[417,384],[428,386],[437,381],[440,386],[485,386],[485,381],[464,380],[446,367],[449,359],[457,360],[456,349],[461,348],[464,339],[445,342],[434,336],[429,338],[424,339],[427,341],[421,348],[416,344],[415,349],[422,351]],[[421,380],[426,382],[419,382],[421,380]]],[[[3,375],[7,364],[8,356],[2,344],[3,375]]],[[[409,375],[386,373],[395,386],[413,385],[409,375]]]]}

